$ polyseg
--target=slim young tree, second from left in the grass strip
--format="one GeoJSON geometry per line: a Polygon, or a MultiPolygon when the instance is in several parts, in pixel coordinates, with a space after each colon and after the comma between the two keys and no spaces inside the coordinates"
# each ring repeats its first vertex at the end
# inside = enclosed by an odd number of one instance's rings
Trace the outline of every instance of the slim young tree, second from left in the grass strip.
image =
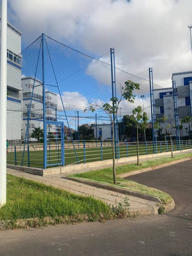
{"type": "Polygon", "coordinates": [[[146,129],[148,124],[148,116],[146,112],[143,112],[142,106],[138,106],[132,110],[131,116],[132,123],[137,130],[137,165],[139,166],[139,133],[138,129],[146,129]]]}

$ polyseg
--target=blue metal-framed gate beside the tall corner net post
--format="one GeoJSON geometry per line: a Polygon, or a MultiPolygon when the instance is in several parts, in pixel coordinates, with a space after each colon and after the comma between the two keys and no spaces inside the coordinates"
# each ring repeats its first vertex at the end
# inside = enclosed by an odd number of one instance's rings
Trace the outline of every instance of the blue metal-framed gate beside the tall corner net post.
{"type": "Polygon", "coordinates": [[[63,122],[46,121],[44,163],[46,166],[64,166],[63,122]]]}

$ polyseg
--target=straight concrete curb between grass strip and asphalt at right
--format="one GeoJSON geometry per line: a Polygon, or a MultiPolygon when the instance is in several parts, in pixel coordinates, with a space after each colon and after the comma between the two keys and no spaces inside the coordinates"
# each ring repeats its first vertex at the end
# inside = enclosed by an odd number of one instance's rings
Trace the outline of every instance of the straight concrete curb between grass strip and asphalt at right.
{"type": "Polygon", "coordinates": [[[145,168],[145,169],[140,169],[140,170],[136,170],[136,171],[132,171],[132,172],[126,172],[126,173],[123,173],[123,174],[119,174],[117,176],[120,177],[120,178],[126,178],[128,176],[140,174],[140,173],[143,173],[143,172],[149,172],[149,171],[152,171],[152,170],[156,170],[156,169],[163,168],[163,167],[166,167],[166,166],[170,166],[170,165],[173,165],[173,164],[178,164],[178,163],[181,163],[181,162],[184,162],[184,161],[187,161],[187,160],[191,160],[191,159],[192,159],[192,156],[189,156],[187,158],[182,158],[182,159],[175,160],[175,161],[172,161],[172,162],[168,162],[168,163],[165,163],[165,164],[159,164],[159,165],[148,167],[148,168],[145,168]]]}

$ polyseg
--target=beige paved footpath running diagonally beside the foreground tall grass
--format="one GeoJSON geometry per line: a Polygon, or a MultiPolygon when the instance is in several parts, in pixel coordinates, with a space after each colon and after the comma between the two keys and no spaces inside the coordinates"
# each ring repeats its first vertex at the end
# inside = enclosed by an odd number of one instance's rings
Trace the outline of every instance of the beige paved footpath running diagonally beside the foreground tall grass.
{"type": "Polygon", "coordinates": [[[125,194],[106,190],[104,188],[97,188],[96,186],[89,186],[72,180],[62,178],[64,174],[53,174],[50,176],[38,176],[13,170],[7,168],[7,173],[20,178],[26,178],[28,180],[34,180],[39,183],[51,185],[56,188],[64,189],[68,192],[82,195],[82,196],[93,196],[96,199],[104,201],[108,205],[115,205],[115,202],[123,202],[128,197],[130,204],[130,215],[154,215],[158,214],[158,207],[155,202],[141,199],[135,196],[126,196],[125,194]]]}

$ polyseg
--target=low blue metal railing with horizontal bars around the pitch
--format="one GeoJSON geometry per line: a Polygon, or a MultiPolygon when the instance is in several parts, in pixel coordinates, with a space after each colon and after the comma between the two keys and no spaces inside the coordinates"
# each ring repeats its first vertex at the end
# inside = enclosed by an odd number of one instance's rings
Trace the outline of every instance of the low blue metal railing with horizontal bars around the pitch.
{"type": "MultiPolygon", "coordinates": [[[[61,152],[58,144],[51,142],[48,146],[49,163],[54,165],[56,162],[59,162],[61,154],[64,155],[64,165],[112,159],[112,140],[75,141],[74,146],[72,142],[66,141],[64,152],[61,152]],[[78,160],[76,156],[78,156],[78,160]]],[[[136,142],[119,142],[116,144],[116,149],[117,158],[137,155],[136,142]]],[[[181,140],[180,144],[172,141],[172,149],[173,151],[191,149],[191,140],[181,140]]],[[[21,165],[22,163],[23,166],[43,167],[43,144],[30,144],[28,147],[24,147],[23,144],[10,145],[8,152],[7,164],[21,165]]],[[[157,144],[153,142],[139,143],[139,155],[162,152],[171,152],[170,141],[158,141],[157,144]]]]}

